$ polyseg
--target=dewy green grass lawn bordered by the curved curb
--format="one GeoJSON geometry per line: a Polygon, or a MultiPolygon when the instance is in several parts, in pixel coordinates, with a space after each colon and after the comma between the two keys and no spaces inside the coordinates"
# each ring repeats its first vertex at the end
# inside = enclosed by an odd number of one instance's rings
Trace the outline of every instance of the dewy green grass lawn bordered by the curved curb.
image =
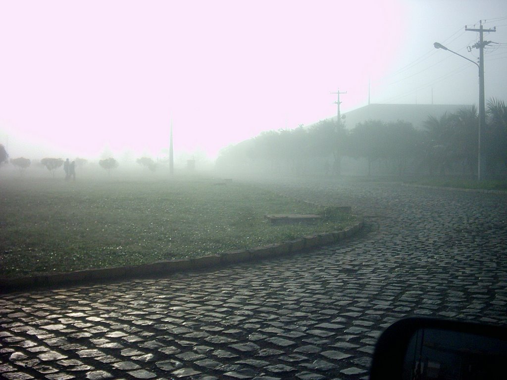
{"type": "Polygon", "coordinates": [[[0,182],[0,277],[135,265],[253,248],[334,231],[271,225],[266,214],[315,207],[239,183],[210,179],[0,182]]]}

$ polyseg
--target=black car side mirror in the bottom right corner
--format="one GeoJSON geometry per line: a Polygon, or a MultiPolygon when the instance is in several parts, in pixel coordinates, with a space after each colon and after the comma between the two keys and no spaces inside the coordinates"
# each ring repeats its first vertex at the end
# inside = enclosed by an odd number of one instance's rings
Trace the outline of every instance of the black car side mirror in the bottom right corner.
{"type": "Polygon", "coordinates": [[[407,318],[379,337],[370,379],[505,379],[506,365],[507,327],[407,318]]]}

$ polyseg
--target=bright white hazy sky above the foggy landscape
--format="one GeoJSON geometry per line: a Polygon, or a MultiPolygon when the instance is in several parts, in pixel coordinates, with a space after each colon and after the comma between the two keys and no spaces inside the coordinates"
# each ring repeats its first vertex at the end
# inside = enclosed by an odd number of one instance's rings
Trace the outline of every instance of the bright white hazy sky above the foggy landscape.
{"type": "Polygon", "coordinates": [[[478,70],[433,48],[485,34],[507,100],[507,2],[0,0],[0,143],[11,158],[215,157],[368,103],[477,104],[478,70]]]}

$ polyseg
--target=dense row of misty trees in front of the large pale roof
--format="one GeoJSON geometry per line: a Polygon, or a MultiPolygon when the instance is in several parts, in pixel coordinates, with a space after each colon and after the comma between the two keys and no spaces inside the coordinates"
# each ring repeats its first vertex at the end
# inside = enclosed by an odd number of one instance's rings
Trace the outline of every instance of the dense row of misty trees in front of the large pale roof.
{"type": "MultiPolygon", "coordinates": [[[[305,128],[269,131],[228,146],[217,166],[226,170],[330,175],[360,168],[372,174],[460,175],[473,177],[478,165],[478,112],[475,106],[441,117],[428,116],[422,130],[402,119],[368,120],[352,129],[336,120],[305,128]]],[[[507,111],[492,99],[481,133],[482,170],[507,174],[507,111]]]]}

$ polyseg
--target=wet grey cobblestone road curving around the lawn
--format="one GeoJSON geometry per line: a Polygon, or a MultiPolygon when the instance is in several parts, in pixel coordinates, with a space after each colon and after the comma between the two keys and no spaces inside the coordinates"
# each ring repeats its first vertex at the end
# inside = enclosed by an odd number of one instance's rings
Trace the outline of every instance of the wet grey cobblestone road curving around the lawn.
{"type": "Polygon", "coordinates": [[[213,272],[2,295],[0,376],[367,378],[377,336],[398,318],[507,324],[507,196],[266,186],[352,205],[371,231],[213,272]]]}

